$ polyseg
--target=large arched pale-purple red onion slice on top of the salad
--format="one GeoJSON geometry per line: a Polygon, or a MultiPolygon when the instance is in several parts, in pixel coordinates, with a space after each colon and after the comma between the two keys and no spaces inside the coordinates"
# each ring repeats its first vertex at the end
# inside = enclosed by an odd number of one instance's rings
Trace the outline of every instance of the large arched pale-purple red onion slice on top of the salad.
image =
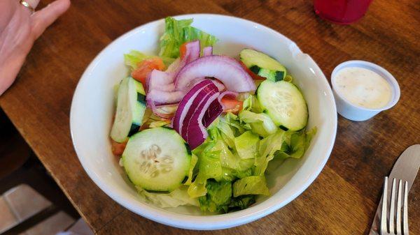
{"type": "Polygon", "coordinates": [[[254,91],[253,79],[244,68],[228,56],[204,56],[188,63],[175,78],[177,90],[186,89],[197,77],[216,77],[230,91],[254,91]]]}

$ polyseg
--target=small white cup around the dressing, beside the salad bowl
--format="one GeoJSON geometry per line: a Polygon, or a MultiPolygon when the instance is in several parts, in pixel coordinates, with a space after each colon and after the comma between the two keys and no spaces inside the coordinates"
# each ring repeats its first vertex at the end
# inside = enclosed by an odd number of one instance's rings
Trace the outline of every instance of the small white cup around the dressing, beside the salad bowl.
{"type": "Polygon", "coordinates": [[[365,121],[367,119],[370,119],[376,114],[379,114],[379,112],[381,111],[391,109],[391,107],[398,103],[398,100],[400,99],[400,86],[398,86],[398,82],[395,79],[395,77],[393,77],[391,73],[389,73],[386,69],[382,68],[381,66],[378,66],[375,63],[370,63],[368,61],[346,61],[340,63],[337,67],[334,68],[334,70],[332,70],[331,84],[332,91],[335,97],[335,102],[337,103],[337,112],[341,116],[344,116],[346,119],[352,121],[365,121]],[[353,105],[348,100],[346,100],[341,94],[339,94],[337,92],[335,84],[335,75],[338,73],[339,70],[349,67],[367,68],[368,70],[372,70],[373,72],[381,75],[381,77],[384,77],[384,79],[386,79],[386,82],[388,82],[388,84],[391,86],[392,90],[392,98],[391,100],[389,100],[389,103],[384,107],[378,109],[369,109],[360,105],[353,105]]]}

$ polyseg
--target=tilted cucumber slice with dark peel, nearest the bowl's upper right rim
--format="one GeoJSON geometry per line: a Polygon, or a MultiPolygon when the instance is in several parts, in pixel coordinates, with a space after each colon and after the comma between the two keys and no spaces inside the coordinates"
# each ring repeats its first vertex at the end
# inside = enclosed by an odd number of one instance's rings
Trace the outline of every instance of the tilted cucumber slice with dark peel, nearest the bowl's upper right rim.
{"type": "Polygon", "coordinates": [[[244,49],[239,53],[241,61],[253,73],[278,82],[286,77],[286,68],[267,54],[251,49],[244,49]]]}

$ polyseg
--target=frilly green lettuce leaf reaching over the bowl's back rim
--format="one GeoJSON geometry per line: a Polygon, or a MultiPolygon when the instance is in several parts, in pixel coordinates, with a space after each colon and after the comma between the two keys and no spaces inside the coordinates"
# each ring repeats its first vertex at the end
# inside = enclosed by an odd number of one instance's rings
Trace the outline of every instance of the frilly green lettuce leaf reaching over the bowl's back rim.
{"type": "Polygon", "coordinates": [[[160,37],[159,55],[177,58],[179,57],[179,47],[183,43],[193,40],[200,40],[202,48],[216,43],[216,37],[190,26],[192,23],[193,19],[175,20],[172,17],[167,17],[165,19],[165,33],[160,37]]]}

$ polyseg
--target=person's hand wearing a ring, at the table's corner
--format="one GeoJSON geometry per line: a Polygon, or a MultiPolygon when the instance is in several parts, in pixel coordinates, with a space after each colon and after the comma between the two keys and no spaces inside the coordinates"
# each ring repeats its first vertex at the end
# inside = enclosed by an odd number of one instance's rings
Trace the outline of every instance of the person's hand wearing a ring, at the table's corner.
{"type": "MultiPolygon", "coordinates": [[[[39,0],[26,0],[36,8],[39,0]]],[[[0,96],[16,79],[36,38],[62,15],[70,0],[57,0],[31,13],[19,0],[0,0],[0,96]]]]}

